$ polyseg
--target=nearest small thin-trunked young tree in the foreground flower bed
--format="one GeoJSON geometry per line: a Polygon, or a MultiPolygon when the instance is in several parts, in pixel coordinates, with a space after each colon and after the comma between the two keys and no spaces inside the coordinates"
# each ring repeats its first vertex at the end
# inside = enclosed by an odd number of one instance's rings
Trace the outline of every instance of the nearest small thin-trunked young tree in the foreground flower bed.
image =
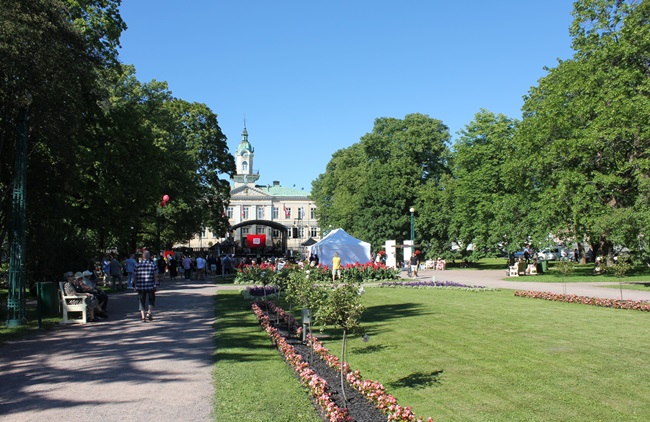
{"type": "Polygon", "coordinates": [[[343,330],[341,342],[341,393],[345,396],[345,372],[347,368],[345,354],[348,333],[359,328],[364,306],[361,304],[363,288],[351,280],[332,285],[327,297],[320,304],[315,319],[322,324],[336,325],[343,330]]]}

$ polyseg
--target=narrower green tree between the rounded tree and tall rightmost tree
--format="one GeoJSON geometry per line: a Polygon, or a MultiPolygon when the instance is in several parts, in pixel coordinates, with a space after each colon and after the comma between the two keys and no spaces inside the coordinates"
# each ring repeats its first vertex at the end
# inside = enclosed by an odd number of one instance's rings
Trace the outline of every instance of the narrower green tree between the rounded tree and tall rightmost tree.
{"type": "MultiPolygon", "coordinates": [[[[510,171],[516,123],[502,114],[481,110],[460,131],[454,145],[454,177],[444,184],[451,197],[451,207],[446,208],[450,209],[447,230],[463,258],[493,255],[524,230],[521,224],[506,223],[521,221],[518,213],[525,212],[522,204],[513,209],[510,200],[519,185],[510,171]]],[[[449,250],[450,245],[445,246],[442,250],[449,250]]]]}

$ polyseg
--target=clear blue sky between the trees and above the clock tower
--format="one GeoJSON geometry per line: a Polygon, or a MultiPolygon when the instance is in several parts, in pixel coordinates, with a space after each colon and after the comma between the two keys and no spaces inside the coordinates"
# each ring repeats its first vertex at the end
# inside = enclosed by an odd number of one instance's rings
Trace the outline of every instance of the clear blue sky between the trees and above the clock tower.
{"type": "Polygon", "coordinates": [[[423,113],[452,134],[572,56],[572,2],[123,0],[120,58],[207,104],[234,151],[244,119],[260,184],[311,190],[378,117],[423,113]]]}

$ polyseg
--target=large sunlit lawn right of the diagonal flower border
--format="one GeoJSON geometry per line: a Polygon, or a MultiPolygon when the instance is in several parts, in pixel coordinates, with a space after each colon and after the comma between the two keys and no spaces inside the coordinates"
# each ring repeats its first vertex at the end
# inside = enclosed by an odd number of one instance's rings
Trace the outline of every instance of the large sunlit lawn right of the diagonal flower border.
{"type": "MultiPolygon", "coordinates": [[[[436,421],[650,420],[650,314],[512,291],[367,288],[348,361],[436,421]]],[[[339,354],[340,334],[323,339],[339,354]]]]}

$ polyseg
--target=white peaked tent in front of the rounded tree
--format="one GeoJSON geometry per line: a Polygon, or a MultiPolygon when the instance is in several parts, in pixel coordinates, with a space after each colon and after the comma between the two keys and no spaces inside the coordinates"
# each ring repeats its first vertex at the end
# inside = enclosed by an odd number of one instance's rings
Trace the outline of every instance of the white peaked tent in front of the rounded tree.
{"type": "Polygon", "coordinates": [[[350,236],[343,229],[331,231],[320,242],[309,247],[309,254],[317,254],[319,262],[328,266],[332,266],[335,252],[341,257],[341,265],[370,261],[370,243],[350,236]]]}

